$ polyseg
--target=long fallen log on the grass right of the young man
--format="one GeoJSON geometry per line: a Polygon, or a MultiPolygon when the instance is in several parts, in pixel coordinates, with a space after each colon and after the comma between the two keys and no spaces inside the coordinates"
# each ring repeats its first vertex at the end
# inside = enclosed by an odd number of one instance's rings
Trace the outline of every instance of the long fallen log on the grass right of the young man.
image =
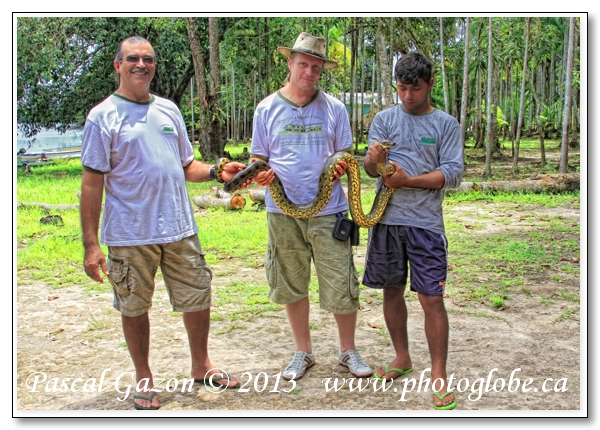
{"type": "Polygon", "coordinates": [[[476,191],[504,191],[514,192],[559,192],[575,191],[580,189],[579,173],[566,173],[544,175],[534,173],[529,179],[522,181],[488,181],[473,183],[476,191]]]}

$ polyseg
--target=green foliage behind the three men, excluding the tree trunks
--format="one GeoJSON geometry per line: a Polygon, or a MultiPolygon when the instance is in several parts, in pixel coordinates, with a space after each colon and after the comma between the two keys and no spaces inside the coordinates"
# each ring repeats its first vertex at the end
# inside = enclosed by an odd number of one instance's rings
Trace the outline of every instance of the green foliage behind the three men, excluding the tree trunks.
{"type": "MultiPolygon", "coordinates": [[[[500,69],[498,126],[518,115],[520,75],[525,46],[526,17],[495,17],[494,63],[500,69]],[[512,94],[507,94],[508,83],[512,94]],[[510,100],[510,103],[509,103],[510,100]],[[501,109],[500,109],[501,107],[501,109]]],[[[221,124],[233,119],[251,123],[254,107],[268,94],[278,90],[286,75],[285,58],[276,51],[278,46],[292,46],[301,31],[327,37],[328,55],[340,67],[324,72],[320,87],[333,94],[351,91],[350,65],[352,40],[357,32],[364,34],[363,53],[356,62],[356,91],[364,86],[372,91],[377,23],[383,23],[385,51],[392,68],[393,58],[410,51],[419,51],[433,61],[436,83],[432,103],[444,105],[440,35],[437,17],[219,17],[219,52],[221,70],[218,94],[208,94],[205,100],[190,95],[190,81],[194,76],[186,18],[180,17],[19,17],[17,18],[17,122],[26,137],[42,128],[67,130],[81,126],[89,110],[113,92],[117,83],[113,58],[117,44],[125,37],[138,34],[148,38],[155,47],[158,65],[152,83],[153,93],[173,100],[182,110],[186,124],[191,125],[191,103],[195,101],[194,128],[206,127],[212,117],[201,117],[200,103],[217,100],[210,115],[216,115],[221,124]],[[346,49],[344,50],[344,46],[346,49]],[[363,67],[364,66],[364,67],[363,67]],[[235,75],[235,85],[233,76],[235,75]]],[[[460,110],[460,94],[464,62],[464,18],[445,17],[444,57],[450,96],[451,113],[460,110]]],[[[197,33],[202,47],[207,85],[211,79],[208,69],[208,18],[196,17],[197,33]]],[[[476,88],[485,88],[487,69],[487,17],[470,20],[469,55],[469,111],[468,121],[474,118],[476,88]],[[476,71],[482,71],[476,82],[476,71]],[[477,84],[477,85],[476,85],[477,84]]],[[[531,18],[529,69],[543,68],[546,74],[544,99],[545,126],[560,129],[561,95],[563,82],[564,32],[568,23],[564,17],[531,18]],[[552,60],[554,62],[552,63],[552,60]],[[550,65],[554,64],[554,70],[550,65]],[[554,81],[550,81],[550,78],[554,81]],[[550,100],[550,95],[555,97],[550,100]]],[[[579,36],[579,26],[577,27],[579,36]]],[[[574,56],[573,88],[580,87],[580,55],[574,56]]],[[[381,77],[379,65],[376,67],[381,77]]],[[[393,78],[392,78],[393,80],[393,78]]],[[[393,82],[392,82],[393,84],[393,82]]],[[[377,91],[377,90],[376,90],[377,91]]],[[[380,91],[380,90],[379,90],[380,91]]],[[[530,89],[526,89],[525,109],[535,108],[530,103],[530,89]]],[[[209,90],[210,92],[210,90],[209,90]]],[[[484,97],[485,99],[485,97],[484,97]]],[[[483,110],[485,113],[485,109],[483,110]]],[[[485,114],[484,123],[485,123],[485,114]]],[[[525,115],[524,129],[531,129],[525,115]]],[[[370,118],[366,119],[367,123],[370,118]]],[[[469,124],[471,125],[471,124],[469,124]]],[[[191,127],[190,127],[191,128],[191,127]]],[[[469,131],[472,133],[472,131],[469,131]]]]}

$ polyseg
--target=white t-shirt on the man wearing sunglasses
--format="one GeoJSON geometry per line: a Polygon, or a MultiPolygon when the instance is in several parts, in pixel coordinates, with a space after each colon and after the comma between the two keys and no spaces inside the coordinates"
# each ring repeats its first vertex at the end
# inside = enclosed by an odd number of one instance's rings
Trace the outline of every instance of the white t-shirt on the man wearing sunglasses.
{"type": "Polygon", "coordinates": [[[113,94],[86,120],[81,163],[105,173],[100,241],[109,246],[169,243],[198,232],[183,167],[194,150],[179,109],[153,96],[113,94]]]}

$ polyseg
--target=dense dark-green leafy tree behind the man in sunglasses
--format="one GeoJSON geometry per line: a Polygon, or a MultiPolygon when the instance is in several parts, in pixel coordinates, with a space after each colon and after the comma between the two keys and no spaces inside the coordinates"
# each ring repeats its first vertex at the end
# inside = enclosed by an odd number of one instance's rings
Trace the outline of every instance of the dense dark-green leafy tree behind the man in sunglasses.
{"type": "Polygon", "coordinates": [[[158,65],[153,93],[177,104],[192,76],[181,18],[21,17],[17,19],[17,122],[26,137],[42,128],[81,127],[116,88],[119,42],[151,41],[158,65]]]}

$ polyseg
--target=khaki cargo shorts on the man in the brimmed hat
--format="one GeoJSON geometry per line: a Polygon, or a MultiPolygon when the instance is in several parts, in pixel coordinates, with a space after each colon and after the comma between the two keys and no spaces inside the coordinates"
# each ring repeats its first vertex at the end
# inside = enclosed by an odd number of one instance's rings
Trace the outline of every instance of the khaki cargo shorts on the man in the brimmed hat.
{"type": "Polygon", "coordinates": [[[335,215],[308,219],[268,213],[269,246],[265,259],[269,297],[294,303],[308,296],[311,260],[319,282],[319,305],[335,314],[350,314],[360,304],[358,273],[350,240],[332,237],[335,215]]]}

